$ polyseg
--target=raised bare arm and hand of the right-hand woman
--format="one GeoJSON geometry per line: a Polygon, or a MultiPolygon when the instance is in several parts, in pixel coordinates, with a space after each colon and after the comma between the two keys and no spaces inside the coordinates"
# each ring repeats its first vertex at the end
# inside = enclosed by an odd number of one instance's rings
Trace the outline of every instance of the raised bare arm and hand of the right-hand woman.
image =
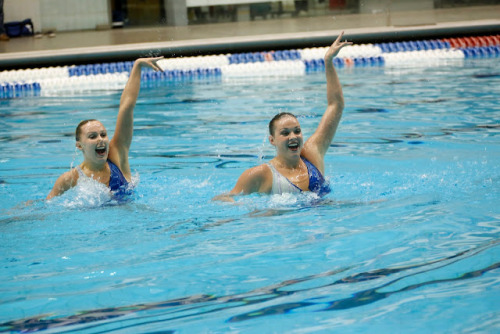
{"type": "Polygon", "coordinates": [[[344,32],[337,37],[325,54],[327,107],[318,128],[304,145],[307,152],[304,152],[306,158],[311,158],[311,161],[320,168],[322,173],[324,171],[323,158],[335,136],[344,109],[342,85],[332,62],[344,46],[352,44],[352,42],[342,42],[343,35],[344,32]]]}

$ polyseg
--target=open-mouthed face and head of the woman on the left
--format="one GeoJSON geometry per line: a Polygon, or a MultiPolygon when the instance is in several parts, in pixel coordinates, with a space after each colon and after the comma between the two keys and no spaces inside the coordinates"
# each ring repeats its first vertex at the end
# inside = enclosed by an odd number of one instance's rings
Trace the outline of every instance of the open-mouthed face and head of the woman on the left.
{"type": "Polygon", "coordinates": [[[104,125],[99,121],[91,121],[83,125],[76,147],[83,152],[85,159],[106,161],[109,152],[109,138],[104,125]]]}

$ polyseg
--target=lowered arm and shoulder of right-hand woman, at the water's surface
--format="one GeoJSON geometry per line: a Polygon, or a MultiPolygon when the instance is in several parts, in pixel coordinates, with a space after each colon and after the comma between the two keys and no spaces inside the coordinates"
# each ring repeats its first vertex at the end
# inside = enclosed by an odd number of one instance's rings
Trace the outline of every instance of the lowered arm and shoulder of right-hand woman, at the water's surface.
{"type": "Polygon", "coordinates": [[[233,202],[233,197],[237,195],[269,193],[272,182],[272,172],[269,167],[266,165],[256,166],[244,171],[229,193],[215,196],[213,200],[233,202]]]}

